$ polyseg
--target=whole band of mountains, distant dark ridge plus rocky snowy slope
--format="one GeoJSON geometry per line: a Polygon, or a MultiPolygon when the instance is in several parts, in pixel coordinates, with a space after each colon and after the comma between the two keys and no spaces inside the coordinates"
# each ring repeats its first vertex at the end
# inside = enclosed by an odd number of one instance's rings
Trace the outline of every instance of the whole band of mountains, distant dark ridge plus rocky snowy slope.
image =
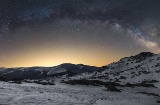
{"type": "Polygon", "coordinates": [[[144,86],[160,88],[160,54],[142,52],[100,68],[69,63],[55,67],[1,68],[0,76],[21,79],[57,77],[64,80],[86,79],[113,82],[120,85],[145,84],[144,86]]]}

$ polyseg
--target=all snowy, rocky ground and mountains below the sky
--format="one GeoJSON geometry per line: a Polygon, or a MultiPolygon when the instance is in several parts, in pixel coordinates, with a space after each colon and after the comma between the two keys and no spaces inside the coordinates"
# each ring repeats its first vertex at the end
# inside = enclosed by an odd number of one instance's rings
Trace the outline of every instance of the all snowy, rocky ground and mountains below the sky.
{"type": "Polygon", "coordinates": [[[1,68],[2,105],[159,105],[160,55],[142,52],[93,67],[1,68]]]}

